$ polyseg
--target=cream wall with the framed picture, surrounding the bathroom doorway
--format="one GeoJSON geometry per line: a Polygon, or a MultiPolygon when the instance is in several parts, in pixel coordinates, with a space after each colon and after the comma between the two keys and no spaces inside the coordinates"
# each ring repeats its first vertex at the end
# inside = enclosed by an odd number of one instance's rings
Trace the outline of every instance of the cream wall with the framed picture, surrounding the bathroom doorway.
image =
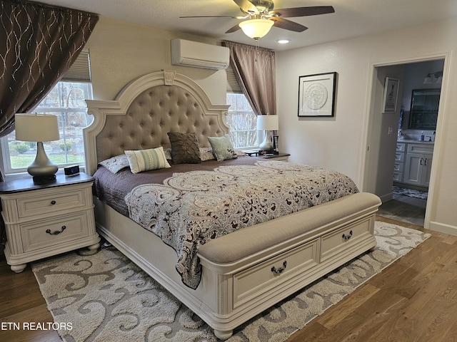
{"type": "Polygon", "coordinates": [[[281,150],[291,153],[292,162],[344,172],[365,190],[368,119],[376,100],[374,69],[445,56],[426,227],[457,234],[456,34],[453,19],[276,53],[281,150]],[[338,73],[335,117],[299,120],[298,76],[333,71],[338,73]]]}

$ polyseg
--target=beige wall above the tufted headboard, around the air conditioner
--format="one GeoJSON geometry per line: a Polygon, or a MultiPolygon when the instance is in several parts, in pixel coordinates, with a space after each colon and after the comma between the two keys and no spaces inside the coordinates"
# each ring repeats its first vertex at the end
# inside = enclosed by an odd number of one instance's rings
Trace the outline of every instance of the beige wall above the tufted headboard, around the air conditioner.
{"type": "Polygon", "coordinates": [[[134,78],[168,69],[196,81],[214,104],[226,103],[225,71],[172,66],[170,40],[173,38],[216,44],[214,39],[102,17],[86,44],[91,58],[94,98],[114,100],[134,78]]]}

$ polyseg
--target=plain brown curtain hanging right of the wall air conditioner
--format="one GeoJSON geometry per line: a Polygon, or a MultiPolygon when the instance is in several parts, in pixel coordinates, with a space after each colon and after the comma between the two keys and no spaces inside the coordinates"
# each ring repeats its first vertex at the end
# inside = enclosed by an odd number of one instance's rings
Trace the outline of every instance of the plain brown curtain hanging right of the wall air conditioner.
{"type": "Polygon", "coordinates": [[[274,51],[223,41],[230,49],[230,66],[256,115],[276,114],[274,51]]]}

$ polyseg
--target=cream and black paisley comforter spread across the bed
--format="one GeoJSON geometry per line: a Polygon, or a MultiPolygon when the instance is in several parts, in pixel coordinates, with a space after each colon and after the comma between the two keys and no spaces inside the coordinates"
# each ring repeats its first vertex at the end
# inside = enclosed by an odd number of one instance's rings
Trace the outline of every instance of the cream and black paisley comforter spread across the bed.
{"type": "Polygon", "coordinates": [[[197,251],[210,239],[356,192],[354,182],[338,172],[259,160],[176,172],[162,184],[134,187],[125,203],[131,219],[176,250],[177,271],[196,289],[197,251]]]}

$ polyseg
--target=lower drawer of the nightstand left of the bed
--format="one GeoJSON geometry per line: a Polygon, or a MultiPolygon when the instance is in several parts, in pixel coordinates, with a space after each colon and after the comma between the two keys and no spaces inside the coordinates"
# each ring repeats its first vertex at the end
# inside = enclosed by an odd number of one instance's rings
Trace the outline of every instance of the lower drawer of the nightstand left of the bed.
{"type": "Polygon", "coordinates": [[[87,237],[88,224],[89,217],[87,212],[79,212],[30,224],[21,224],[24,252],[31,252],[49,246],[57,247],[61,243],[87,237]]]}

